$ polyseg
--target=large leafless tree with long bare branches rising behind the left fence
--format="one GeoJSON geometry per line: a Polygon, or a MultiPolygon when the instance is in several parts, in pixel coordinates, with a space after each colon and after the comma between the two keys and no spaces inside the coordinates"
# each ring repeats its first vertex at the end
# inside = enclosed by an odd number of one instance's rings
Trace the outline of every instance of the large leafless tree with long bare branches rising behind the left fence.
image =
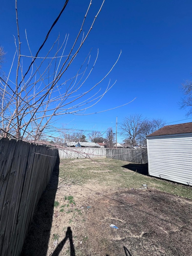
{"type": "MultiPolygon", "coordinates": [[[[26,32],[26,44],[30,52],[30,55],[27,56],[21,53],[21,46],[24,44],[24,40],[22,39],[21,45],[17,0],[15,0],[17,25],[17,39],[15,38],[16,52],[9,74],[5,78],[0,76],[0,85],[3,94],[0,112],[0,130],[3,132],[4,137],[12,136],[22,140],[32,141],[46,138],[47,134],[50,134],[49,128],[52,122],[55,121],[55,118],[65,114],[91,114],[85,113],[85,111],[97,104],[114,85],[114,83],[111,85],[109,80],[103,91],[101,88],[97,89],[98,85],[100,85],[112,71],[121,53],[107,74],[96,84],[91,85],[89,89],[84,89],[84,86],[96,64],[98,52],[95,59],[91,62],[90,51],[85,57],[84,62],[81,63],[79,68],[74,72],[73,77],[69,77],[68,79],[64,78],[64,74],[66,74],[66,71],[70,68],[74,60],[76,60],[76,56],[81,50],[82,45],[101,12],[105,0],[102,2],[101,6],[99,6],[98,12],[89,24],[89,29],[86,29],[88,32],[85,33],[83,32],[83,28],[87,21],[87,14],[90,12],[90,0],[82,24],[79,26],[79,32],[72,46],[68,47],[70,48],[68,52],[66,45],[69,35],[65,36],[63,42],[60,42],[60,35],[58,35],[58,38],[50,46],[47,54],[40,56],[40,52],[50,32],[64,12],[68,2],[69,0],[66,0],[60,14],[53,22],[45,40],[36,54],[32,53],[26,32]],[[27,65],[28,61],[26,61],[26,59],[31,59],[30,65],[27,65]],[[15,62],[16,70],[13,68],[15,62]],[[10,76],[13,76],[11,75],[12,73],[16,73],[15,81],[10,79],[10,76]]],[[[86,24],[86,26],[88,25],[86,24]]],[[[107,110],[100,112],[104,111],[107,110]]]]}

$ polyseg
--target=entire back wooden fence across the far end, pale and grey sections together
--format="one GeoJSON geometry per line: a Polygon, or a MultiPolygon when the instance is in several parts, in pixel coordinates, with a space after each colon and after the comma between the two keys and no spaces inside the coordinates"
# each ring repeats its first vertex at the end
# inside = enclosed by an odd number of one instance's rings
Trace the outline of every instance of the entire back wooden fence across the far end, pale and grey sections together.
{"type": "Polygon", "coordinates": [[[60,159],[65,158],[113,158],[146,164],[147,149],[64,148],[59,149],[60,159]]]}

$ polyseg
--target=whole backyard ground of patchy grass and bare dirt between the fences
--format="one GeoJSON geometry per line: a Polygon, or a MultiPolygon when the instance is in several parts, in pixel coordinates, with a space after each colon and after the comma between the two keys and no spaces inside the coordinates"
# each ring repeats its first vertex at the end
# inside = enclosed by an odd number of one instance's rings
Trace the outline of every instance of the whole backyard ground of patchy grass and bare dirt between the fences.
{"type": "Polygon", "coordinates": [[[60,160],[22,255],[191,255],[191,188],[146,174],[108,158],[60,160]]]}

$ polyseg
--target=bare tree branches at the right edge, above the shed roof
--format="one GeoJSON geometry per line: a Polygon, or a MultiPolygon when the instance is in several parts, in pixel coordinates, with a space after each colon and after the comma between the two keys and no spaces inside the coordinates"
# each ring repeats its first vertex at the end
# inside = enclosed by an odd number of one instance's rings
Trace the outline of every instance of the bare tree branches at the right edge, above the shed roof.
{"type": "Polygon", "coordinates": [[[184,97],[179,102],[181,109],[186,109],[186,116],[192,115],[192,81],[185,81],[182,84],[182,91],[184,93],[184,97]]]}

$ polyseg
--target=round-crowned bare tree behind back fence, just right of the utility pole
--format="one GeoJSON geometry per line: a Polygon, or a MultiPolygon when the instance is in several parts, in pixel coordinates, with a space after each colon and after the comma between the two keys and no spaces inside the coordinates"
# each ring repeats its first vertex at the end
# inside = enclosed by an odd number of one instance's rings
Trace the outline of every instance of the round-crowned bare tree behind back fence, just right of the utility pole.
{"type": "Polygon", "coordinates": [[[121,124],[122,135],[131,140],[131,145],[137,145],[143,124],[142,115],[133,114],[124,118],[121,124]]]}

